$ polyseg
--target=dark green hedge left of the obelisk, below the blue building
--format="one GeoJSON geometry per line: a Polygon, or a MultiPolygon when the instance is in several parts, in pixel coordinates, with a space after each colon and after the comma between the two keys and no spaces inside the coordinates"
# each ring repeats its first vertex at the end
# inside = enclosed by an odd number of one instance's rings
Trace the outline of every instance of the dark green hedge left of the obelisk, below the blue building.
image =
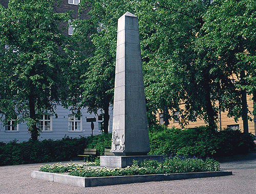
{"type": "Polygon", "coordinates": [[[25,141],[0,143],[0,165],[69,161],[83,154],[85,148],[96,148],[98,155],[104,154],[104,147],[110,146],[111,134],[69,138],[60,140],[25,141]]]}

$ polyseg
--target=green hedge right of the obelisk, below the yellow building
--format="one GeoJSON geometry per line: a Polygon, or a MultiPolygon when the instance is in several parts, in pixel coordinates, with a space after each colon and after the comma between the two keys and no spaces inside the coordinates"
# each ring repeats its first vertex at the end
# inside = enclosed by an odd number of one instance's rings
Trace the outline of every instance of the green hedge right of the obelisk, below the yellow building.
{"type": "Polygon", "coordinates": [[[246,154],[254,149],[250,134],[225,129],[212,132],[207,127],[192,129],[164,128],[150,133],[153,155],[221,157],[246,154]]]}

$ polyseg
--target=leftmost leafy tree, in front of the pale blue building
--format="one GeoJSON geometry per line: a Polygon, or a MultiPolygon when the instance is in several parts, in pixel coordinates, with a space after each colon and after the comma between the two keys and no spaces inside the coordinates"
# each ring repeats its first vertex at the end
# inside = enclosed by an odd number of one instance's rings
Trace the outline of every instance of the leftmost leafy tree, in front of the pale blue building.
{"type": "Polygon", "coordinates": [[[61,1],[9,1],[0,7],[1,104],[5,120],[18,115],[26,121],[31,139],[37,140],[39,118],[54,114],[56,104],[66,97],[63,71],[69,63],[63,48],[68,37],[58,24],[68,21],[69,13],[54,13],[61,1]]]}

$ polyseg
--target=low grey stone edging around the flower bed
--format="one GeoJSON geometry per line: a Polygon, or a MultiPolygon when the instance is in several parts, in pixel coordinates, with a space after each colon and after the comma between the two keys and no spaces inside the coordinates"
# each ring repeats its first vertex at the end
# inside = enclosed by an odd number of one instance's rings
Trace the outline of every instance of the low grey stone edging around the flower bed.
{"type": "Polygon", "coordinates": [[[120,177],[76,177],[55,173],[32,171],[31,177],[47,181],[69,184],[79,187],[93,187],[129,183],[142,183],[152,181],[172,181],[181,179],[194,179],[206,177],[221,177],[232,175],[232,171],[201,172],[201,173],[179,173],[179,174],[157,174],[157,175],[134,175],[120,177]]]}

